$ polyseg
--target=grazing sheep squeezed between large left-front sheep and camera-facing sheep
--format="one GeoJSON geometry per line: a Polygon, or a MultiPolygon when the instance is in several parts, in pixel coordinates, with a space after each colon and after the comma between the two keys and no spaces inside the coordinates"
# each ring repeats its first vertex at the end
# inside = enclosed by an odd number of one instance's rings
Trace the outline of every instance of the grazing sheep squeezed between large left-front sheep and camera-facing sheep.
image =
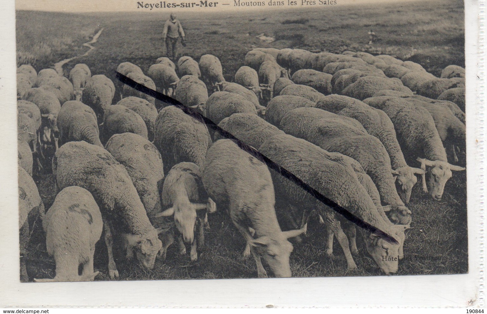
{"type": "Polygon", "coordinates": [[[134,133],[113,134],[105,149],[127,169],[147,216],[155,225],[155,215],[162,212],[159,193],[164,181],[164,164],[159,150],[134,133]]]}

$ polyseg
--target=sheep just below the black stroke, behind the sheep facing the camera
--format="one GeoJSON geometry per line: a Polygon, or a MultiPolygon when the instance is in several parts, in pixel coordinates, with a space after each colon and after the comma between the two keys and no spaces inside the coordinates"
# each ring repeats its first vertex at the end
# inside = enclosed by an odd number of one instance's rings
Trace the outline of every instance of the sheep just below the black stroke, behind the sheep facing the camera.
{"type": "Polygon", "coordinates": [[[175,106],[161,110],[155,122],[154,145],[164,162],[164,173],[181,162],[202,166],[211,138],[206,125],[175,106]]]}

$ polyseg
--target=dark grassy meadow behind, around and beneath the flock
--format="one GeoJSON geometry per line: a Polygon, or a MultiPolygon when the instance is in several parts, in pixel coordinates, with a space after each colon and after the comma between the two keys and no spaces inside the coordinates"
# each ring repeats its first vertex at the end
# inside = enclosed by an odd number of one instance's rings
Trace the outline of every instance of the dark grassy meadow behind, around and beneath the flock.
{"type": "MultiPolygon", "coordinates": [[[[341,53],[346,50],[389,54],[422,64],[438,75],[445,66],[464,66],[464,21],[462,1],[421,1],[374,6],[335,6],[312,10],[276,12],[239,11],[222,14],[180,13],[187,33],[182,55],[198,59],[217,55],[224,67],[225,79],[233,81],[243,65],[244,55],[253,47],[303,48],[313,52],[341,53]],[[431,8],[434,8],[431,10],[431,8]],[[367,32],[373,27],[380,40],[368,45],[367,32]],[[256,38],[264,33],[276,38],[265,44],[256,38]]],[[[65,14],[17,12],[18,63],[31,63],[37,71],[52,67],[61,59],[82,54],[88,41],[104,28],[96,49],[64,66],[65,75],[76,63],[86,63],[92,74],[105,74],[115,80],[114,70],[130,61],[147,71],[155,59],[165,55],[161,39],[167,18],[161,13],[65,14]],[[31,27],[35,23],[36,27],[31,27]]],[[[116,96],[115,96],[116,97],[116,96]]],[[[114,99],[117,101],[118,99],[114,99]]],[[[465,156],[461,156],[465,163],[465,156]]],[[[418,166],[418,165],[412,165],[418,166]]],[[[46,208],[55,198],[52,173],[36,173],[35,180],[46,208]]],[[[454,274],[468,271],[466,173],[454,172],[441,202],[433,202],[416,185],[410,209],[412,229],[407,231],[405,258],[397,275],[454,274]]],[[[197,262],[180,256],[176,246],[169,248],[166,261],[157,261],[153,270],[119,260],[122,280],[176,278],[257,277],[253,259],[243,260],[244,241],[224,212],[209,217],[206,248],[197,262]]],[[[308,227],[303,243],[295,245],[291,255],[293,276],[369,276],[379,275],[375,263],[358,240],[358,271],[345,273],[343,253],[335,243],[335,257],[324,254],[324,230],[316,220],[308,227]]],[[[97,279],[107,277],[106,248],[98,243],[95,254],[97,279]]],[[[30,278],[54,276],[55,263],[45,252],[39,229],[30,242],[27,270],[30,278]]]]}

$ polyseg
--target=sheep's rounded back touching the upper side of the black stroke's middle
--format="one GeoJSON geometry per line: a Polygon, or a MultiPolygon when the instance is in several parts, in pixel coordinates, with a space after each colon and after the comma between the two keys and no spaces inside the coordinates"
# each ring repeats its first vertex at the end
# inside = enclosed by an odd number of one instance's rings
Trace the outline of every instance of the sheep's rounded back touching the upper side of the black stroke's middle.
{"type": "Polygon", "coordinates": [[[249,112],[257,115],[255,105],[233,92],[214,92],[206,102],[206,117],[219,124],[233,113],[249,112]]]}

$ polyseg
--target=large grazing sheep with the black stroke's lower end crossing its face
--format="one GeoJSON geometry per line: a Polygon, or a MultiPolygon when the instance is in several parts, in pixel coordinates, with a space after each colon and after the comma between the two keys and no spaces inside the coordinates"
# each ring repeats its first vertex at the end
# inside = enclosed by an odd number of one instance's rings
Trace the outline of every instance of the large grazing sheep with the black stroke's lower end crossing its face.
{"type": "MultiPolygon", "coordinates": [[[[404,230],[408,226],[393,225],[381,217],[377,207],[366,189],[358,182],[351,167],[328,159],[327,152],[323,149],[291,135],[275,135],[264,142],[259,150],[269,159],[295,174],[306,184],[311,185],[325,197],[343,206],[362,221],[386,232],[395,239],[399,239],[399,244],[392,244],[360,228],[366,249],[380,269],[385,274],[397,272],[397,261],[386,262],[383,256],[395,257],[399,255],[400,244],[404,240],[404,230]]],[[[307,215],[315,208],[327,218],[328,226],[337,236],[345,253],[347,269],[356,269],[356,264],[350,254],[348,240],[340,228],[338,221],[340,216],[276,171],[272,171],[271,175],[276,193],[282,195],[285,198],[284,202],[294,207],[294,211],[298,211],[299,208],[299,212],[295,213],[295,216],[299,217],[301,225],[306,222],[307,215]]]]}

